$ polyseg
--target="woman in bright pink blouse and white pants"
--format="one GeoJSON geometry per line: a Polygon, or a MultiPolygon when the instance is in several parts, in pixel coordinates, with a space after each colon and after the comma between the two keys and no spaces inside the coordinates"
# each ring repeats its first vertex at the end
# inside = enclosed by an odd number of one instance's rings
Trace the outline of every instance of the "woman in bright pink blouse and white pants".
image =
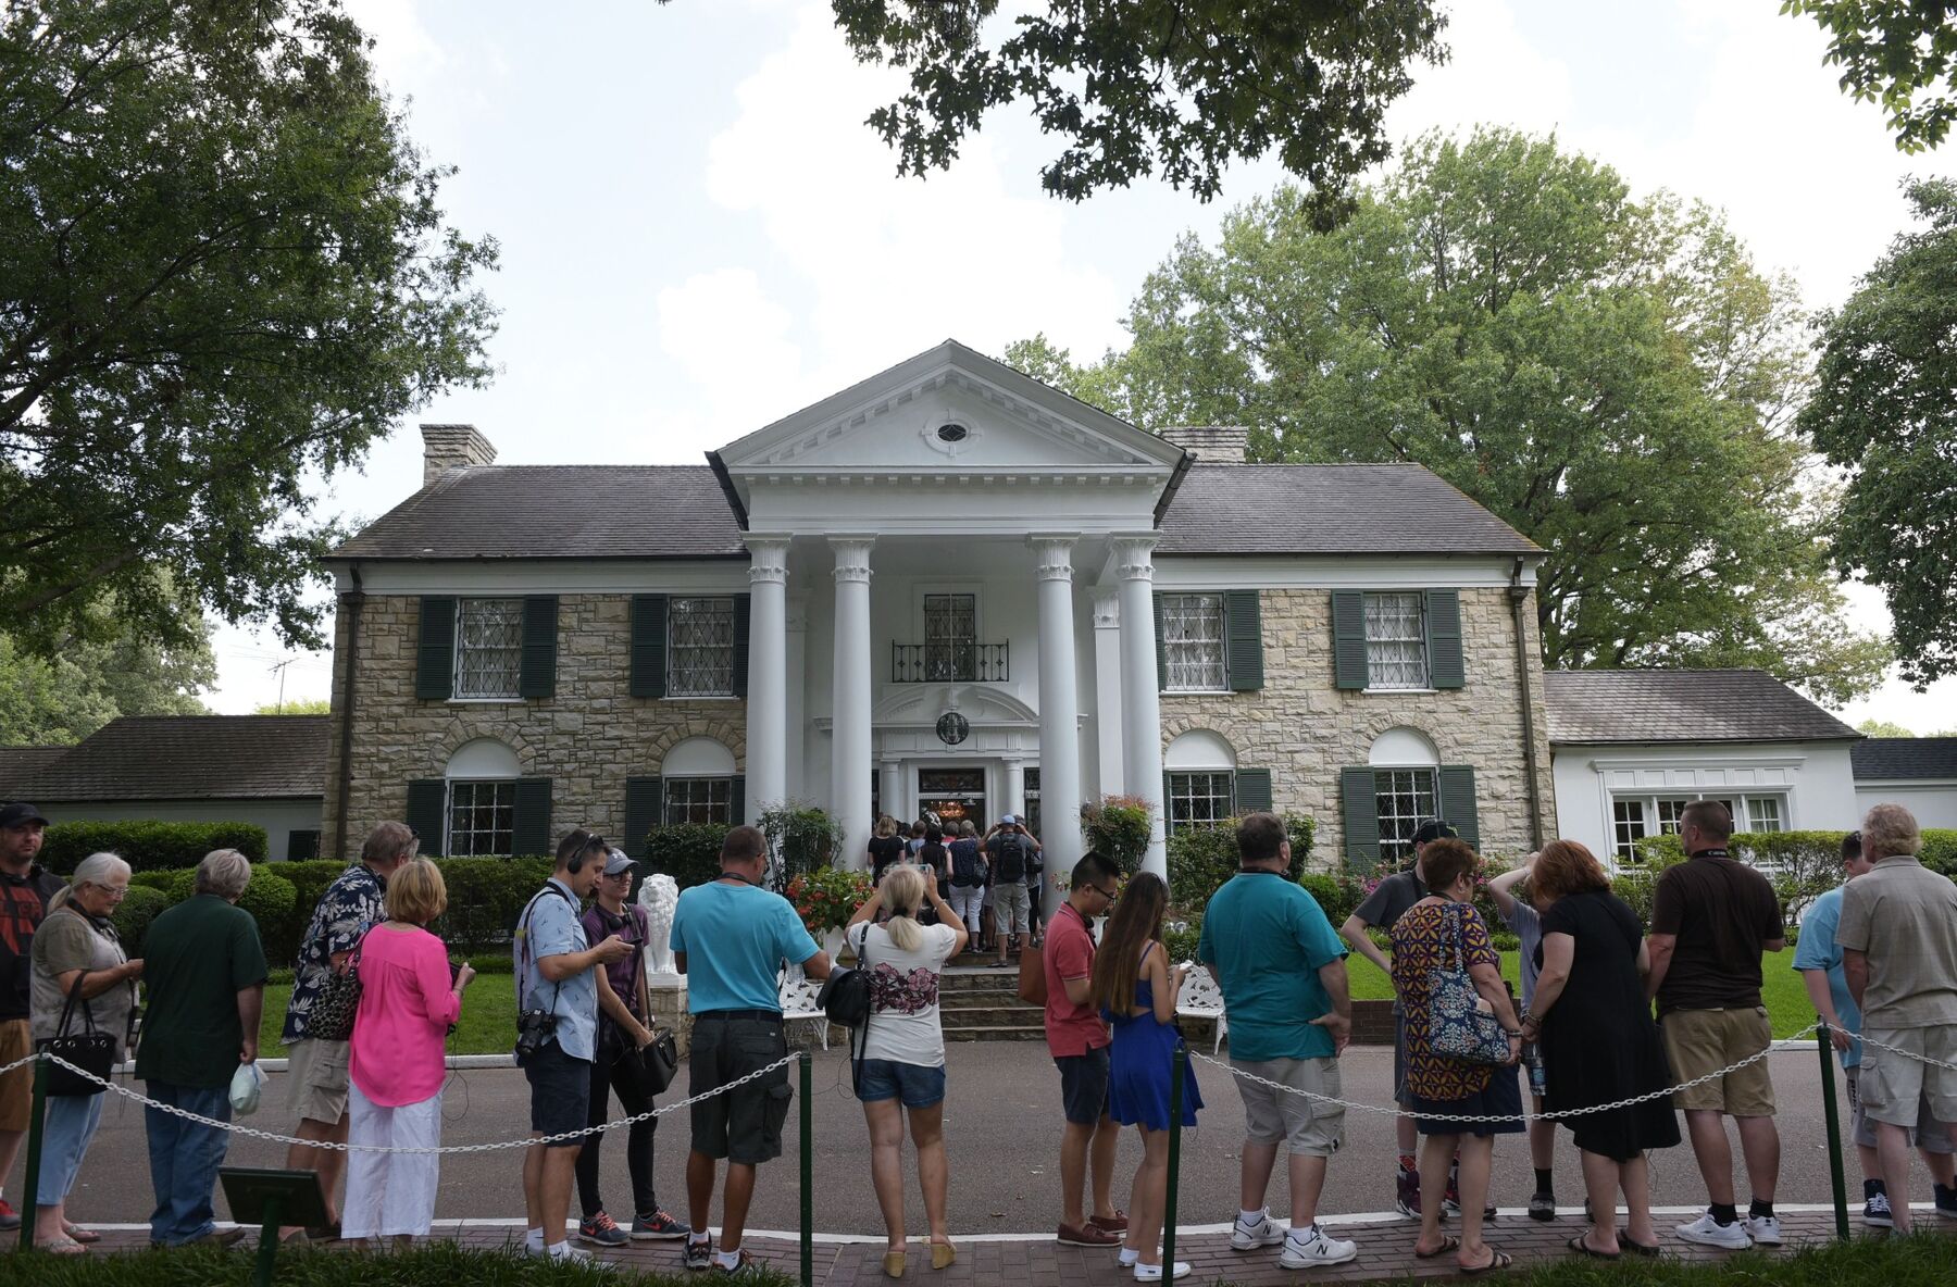
{"type": "MultiPolygon", "coordinates": [[[[448,906],[442,872],[413,859],[387,878],[387,919],[354,949],[360,1009],[348,1072],[348,1144],[434,1148],[442,1142],[442,1041],[476,970],[452,978],[448,949],[427,931],[448,906]]],[[[438,1154],[354,1150],[346,1160],[344,1238],[405,1246],[434,1222],[438,1154]]]]}

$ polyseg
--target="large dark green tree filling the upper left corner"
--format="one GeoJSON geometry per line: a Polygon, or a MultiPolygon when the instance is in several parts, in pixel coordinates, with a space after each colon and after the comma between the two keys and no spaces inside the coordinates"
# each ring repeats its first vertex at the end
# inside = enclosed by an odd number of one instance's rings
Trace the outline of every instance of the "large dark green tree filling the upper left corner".
{"type": "Polygon", "coordinates": [[[184,644],[172,587],[317,644],[333,477],[487,376],[495,244],[339,0],[0,12],[0,612],[51,653],[104,595],[184,644]]]}

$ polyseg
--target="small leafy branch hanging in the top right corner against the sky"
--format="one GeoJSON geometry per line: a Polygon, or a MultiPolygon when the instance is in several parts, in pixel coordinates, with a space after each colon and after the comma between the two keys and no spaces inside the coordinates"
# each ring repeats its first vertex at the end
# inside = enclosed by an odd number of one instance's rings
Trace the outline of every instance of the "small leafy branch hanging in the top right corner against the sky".
{"type": "Polygon", "coordinates": [[[1842,68],[1842,88],[1889,113],[1896,149],[1922,153],[1957,117],[1957,25],[1947,0],[1781,0],[1781,12],[1808,16],[1828,33],[1826,63],[1842,68]]]}

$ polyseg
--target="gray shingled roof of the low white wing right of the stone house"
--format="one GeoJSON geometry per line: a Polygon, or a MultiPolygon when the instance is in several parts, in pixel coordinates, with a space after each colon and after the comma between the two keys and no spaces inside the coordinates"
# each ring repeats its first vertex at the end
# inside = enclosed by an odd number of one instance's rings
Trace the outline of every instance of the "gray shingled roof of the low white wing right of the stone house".
{"type": "Polygon", "coordinates": [[[1544,671],[1550,741],[1861,737],[1765,671],[1544,671]]]}

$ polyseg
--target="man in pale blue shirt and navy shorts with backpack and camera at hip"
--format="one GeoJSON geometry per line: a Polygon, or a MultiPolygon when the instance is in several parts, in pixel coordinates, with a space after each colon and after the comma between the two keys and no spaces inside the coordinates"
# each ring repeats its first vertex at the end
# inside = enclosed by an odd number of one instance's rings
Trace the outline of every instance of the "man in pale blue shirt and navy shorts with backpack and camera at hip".
{"type": "MultiPolygon", "coordinates": [[[[577,827],[558,841],[558,866],[517,921],[517,1062],[530,1082],[536,1138],[583,1132],[597,1060],[599,966],[624,960],[618,935],[591,947],[579,913],[605,870],[603,835],[577,827]]],[[[530,1144],[523,1156],[524,1248],[552,1260],[587,1260],[566,1234],[571,1174],[583,1138],[530,1144]]]]}

